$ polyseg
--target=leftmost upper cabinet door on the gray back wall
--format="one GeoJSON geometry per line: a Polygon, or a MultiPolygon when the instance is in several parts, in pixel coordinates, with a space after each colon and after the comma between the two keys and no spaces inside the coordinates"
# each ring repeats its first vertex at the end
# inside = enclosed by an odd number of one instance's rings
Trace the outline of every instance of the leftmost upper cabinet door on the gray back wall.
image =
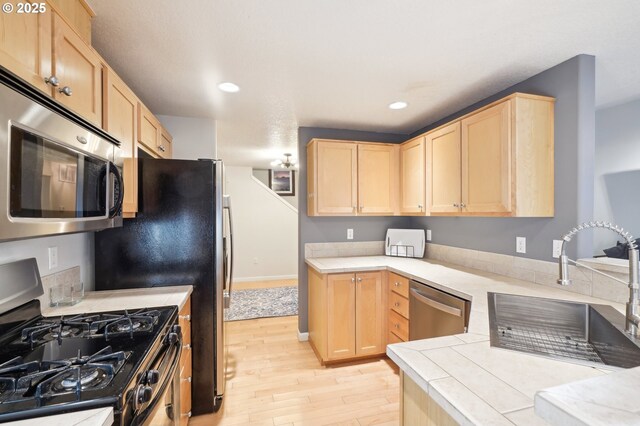
{"type": "Polygon", "coordinates": [[[318,214],[354,216],[357,196],[357,145],[353,142],[318,142],[318,214]]]}

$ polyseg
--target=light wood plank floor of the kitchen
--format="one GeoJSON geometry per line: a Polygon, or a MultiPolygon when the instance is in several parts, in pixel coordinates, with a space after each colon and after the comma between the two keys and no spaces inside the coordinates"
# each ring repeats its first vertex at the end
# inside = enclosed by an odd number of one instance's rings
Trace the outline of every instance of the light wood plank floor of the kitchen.
{"type": "Polygon", "coordinates": [[[398,425],[392,361],[322,367],[297,330],[295,316],[227,323],[230,371],[222,408],[189,425],[398,425]]]}

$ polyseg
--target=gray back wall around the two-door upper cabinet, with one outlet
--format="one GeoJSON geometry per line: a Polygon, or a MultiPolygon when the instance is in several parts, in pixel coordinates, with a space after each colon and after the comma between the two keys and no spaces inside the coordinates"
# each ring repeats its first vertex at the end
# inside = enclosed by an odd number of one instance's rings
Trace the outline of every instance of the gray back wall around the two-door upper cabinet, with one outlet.
{"type": "Polygon", "coordinates": [[[304,263],[306,243],[347,241],[347,228],[353,228],[353,241],[382,241],[387,228],[406,228],[406,217],[309,217],[307,216],[307,143],[313,138],[361,140],[373,142],[402,142],[406,135],[359,132],[354,130],[300,127],[298,129],[298,158],[300,170],[297,186],[301,200],[298,206],[298,330],[307,328],[307,266],[304,263]]]}

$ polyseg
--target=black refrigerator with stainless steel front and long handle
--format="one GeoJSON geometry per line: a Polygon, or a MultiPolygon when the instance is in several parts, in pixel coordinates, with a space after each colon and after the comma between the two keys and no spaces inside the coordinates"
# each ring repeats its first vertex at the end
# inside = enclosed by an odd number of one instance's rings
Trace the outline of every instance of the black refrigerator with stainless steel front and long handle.
{"type": "Polygon", "coordinates": [[[233,263],[223,164],[140,158],[138,177],[136,217],[95,235],[96,290],[193,286],[192,413],[211,413],[224,394],[233,263]]]}

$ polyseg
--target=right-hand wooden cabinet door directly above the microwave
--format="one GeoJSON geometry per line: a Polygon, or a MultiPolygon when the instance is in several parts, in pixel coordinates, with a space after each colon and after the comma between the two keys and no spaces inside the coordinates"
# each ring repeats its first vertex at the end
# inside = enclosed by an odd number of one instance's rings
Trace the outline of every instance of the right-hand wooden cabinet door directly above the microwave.
{"type": "Polygon", "coordinates": [[[54,98],[97,126],[102,125],[102,63],[69,25],[53,14],[54,98]],[[70,89],[69,94],[62,91],[70,89]]]}

